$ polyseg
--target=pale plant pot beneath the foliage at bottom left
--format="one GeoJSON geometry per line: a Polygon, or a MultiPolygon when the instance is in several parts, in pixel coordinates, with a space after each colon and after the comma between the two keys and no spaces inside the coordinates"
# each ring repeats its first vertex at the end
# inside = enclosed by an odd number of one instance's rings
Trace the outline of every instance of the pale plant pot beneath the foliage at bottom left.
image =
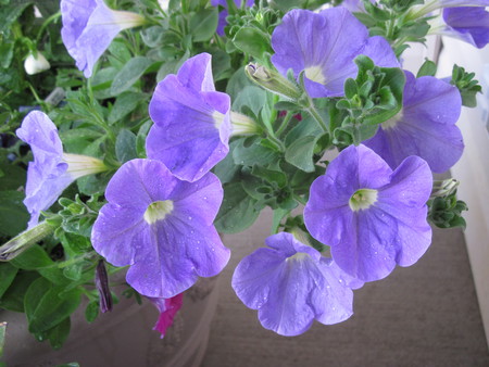
{"type": "Polygon", "coordinates": [[[121,298],[111,313],[85,320],[85,307],[72,316],[68,340],[60,351],[36,341],[25,315],[0,312],[7,321],[2,360],[13,366],[54,366],[77,362],[80,366],[198,367],[208,346],[210,325],[217,305],[217,278],[202,278],[184,293],[184,304],[164,339],[152,328],[159,313],[147,300],[121,298]]]}

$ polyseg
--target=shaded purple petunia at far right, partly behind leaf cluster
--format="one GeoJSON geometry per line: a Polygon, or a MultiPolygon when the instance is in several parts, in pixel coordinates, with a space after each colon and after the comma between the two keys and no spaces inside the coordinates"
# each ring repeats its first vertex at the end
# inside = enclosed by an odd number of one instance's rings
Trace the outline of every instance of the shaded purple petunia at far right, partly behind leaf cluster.
{"type": "Polygon", "coordinates": [[[410,72],[405,76],[401,112],[363,143],[392,168],[408,156],[418,155],[432,172],[446,172],[464,149],[462,132],[455,125],[462,109],[460,92],[431,76],[416,79],[410,72]]]}

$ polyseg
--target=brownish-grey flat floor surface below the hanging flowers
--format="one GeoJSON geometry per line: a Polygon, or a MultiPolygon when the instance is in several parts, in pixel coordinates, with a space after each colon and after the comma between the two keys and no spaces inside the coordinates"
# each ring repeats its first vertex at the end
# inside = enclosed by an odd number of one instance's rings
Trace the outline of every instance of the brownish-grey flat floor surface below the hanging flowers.
{"type": "Polygon", "coordinates": [[[314,322],[285,338],[261,327],[230,287],[240,258],[263,245],[269,213],[224,241],[233,250],[222,274],[217,313],[202,367],[221,366],[489,366],[463,233],[434,230],[434,242],[412,267],[355,291],[346,322],[314,322]]]}

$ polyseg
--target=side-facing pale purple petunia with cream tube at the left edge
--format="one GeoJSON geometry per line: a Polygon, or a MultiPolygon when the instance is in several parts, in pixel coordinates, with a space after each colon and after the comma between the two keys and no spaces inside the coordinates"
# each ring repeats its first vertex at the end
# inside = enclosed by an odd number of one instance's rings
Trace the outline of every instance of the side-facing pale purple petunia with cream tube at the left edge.
{"type": "Polygon", "coordinates": [[[30,145],[34,155],[27,168],[24,200],[30,214],[28,228],[38,224],[40,212],[49,208],[74,180],[106,169],[95,157],[63,153],[58,129],[43,112],[30,112],[15,132],[30,145]]]}

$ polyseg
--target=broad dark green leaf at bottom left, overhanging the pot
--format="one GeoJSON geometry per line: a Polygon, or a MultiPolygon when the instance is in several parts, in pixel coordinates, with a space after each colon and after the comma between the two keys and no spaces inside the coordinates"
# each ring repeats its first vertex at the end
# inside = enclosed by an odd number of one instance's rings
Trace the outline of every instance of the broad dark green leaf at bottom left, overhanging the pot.
{"type": "Polygon", "coordinates": [[[78,307],[80,300],[78,289],[65,292],[64,288],[53,287],[43,278],[36,280],[25,294],[29,331],[40,333],[55,327],[78,307]]]}

